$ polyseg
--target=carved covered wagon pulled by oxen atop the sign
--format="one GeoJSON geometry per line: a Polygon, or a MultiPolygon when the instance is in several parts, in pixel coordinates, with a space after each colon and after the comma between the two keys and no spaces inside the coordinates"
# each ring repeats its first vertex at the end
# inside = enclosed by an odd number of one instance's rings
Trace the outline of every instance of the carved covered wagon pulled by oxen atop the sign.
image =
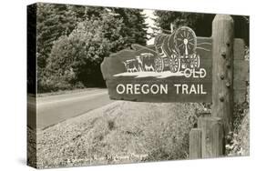
{"type": "Polygon", "coordinates": [[[197,55],[196,47],[197,38],[194,31],[188,26],[182,26],[170,35],[157,35],[153,46],[157,55],[149,52],[141,53],[135,59],[124,61],[123,64],[128,73],[163,71],[178,73],[186,68],[200,68],[200,55],[197,55]]]}

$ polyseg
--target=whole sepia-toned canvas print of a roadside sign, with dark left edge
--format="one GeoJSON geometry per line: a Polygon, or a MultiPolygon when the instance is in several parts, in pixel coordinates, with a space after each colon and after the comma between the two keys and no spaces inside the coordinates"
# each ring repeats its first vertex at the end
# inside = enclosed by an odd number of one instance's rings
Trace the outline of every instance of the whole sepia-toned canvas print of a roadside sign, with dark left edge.
{"type": "Polygon", "coordinates": [[[27,165],[250,156],[250,19],[27,5],[27,165]]]}

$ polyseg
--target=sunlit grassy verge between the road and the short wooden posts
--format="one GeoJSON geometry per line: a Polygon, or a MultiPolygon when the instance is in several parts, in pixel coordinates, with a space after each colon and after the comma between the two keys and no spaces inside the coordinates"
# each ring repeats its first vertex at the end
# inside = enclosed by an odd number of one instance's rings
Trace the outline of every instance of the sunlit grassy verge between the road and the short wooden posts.
{"type": "Polygon", "coordinates": [[[37,132],[37,167],[184,159],[198,104],[116,102],[37,132]]]}

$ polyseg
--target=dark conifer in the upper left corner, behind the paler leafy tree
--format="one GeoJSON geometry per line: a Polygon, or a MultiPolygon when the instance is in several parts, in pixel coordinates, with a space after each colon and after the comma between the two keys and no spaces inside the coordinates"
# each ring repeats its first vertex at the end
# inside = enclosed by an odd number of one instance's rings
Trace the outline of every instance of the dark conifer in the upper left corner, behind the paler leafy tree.
{"type": "Polygon", "coordinates": [[[77,5],[36,4],[36,60],[40,78],[45,75],[46,59],[52,45],[69,35],[84,17],[85,7],[77,5]]]}

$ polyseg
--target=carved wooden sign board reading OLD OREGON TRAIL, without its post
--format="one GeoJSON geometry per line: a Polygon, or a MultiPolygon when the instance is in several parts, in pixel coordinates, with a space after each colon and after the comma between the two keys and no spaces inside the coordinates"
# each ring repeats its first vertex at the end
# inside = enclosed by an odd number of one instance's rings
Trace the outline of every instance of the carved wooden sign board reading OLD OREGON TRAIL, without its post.
{"type": "MultiPolygon", "coordinates": [[[[235,52],[237,58],[243,56],[240,40],[234,41],[240,49],[235,52]]],[[[182,26],[172,34],[157,35],[154,45],[132,45],[132,50],[105,57],[101,71],[110,99],[211,102],[211,43],[210,37],[197,37],[191,28],[182,26]]]]}

